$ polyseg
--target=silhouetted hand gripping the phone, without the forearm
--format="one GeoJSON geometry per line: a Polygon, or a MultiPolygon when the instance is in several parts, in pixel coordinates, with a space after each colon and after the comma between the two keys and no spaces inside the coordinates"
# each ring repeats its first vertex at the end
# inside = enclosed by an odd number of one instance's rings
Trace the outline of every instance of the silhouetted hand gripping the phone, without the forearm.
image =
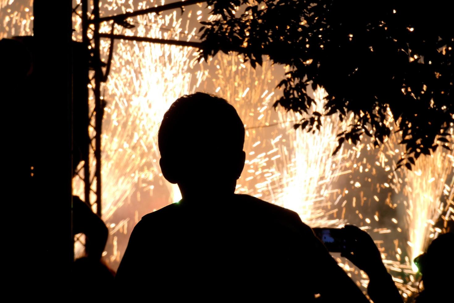
{"type": "Polygon", "coordinates": [[[358,268],[365,271],[369,277],[386,273],[380,251],[370,235],[354,225],[345,225],[344,229],[349,241],[341,256],[349,259],[358,268]]]}

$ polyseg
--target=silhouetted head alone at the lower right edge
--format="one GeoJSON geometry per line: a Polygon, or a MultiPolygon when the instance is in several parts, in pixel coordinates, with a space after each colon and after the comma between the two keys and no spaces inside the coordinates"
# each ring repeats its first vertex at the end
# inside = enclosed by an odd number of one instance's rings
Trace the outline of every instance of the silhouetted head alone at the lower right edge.
{"type": "Polygon", "coordinates": [[[444,233],[430,243],[426,253],[415,259],[422,274],[424,291],[437,293],[452,287],[453,253],[454,233],[444,233]]]}

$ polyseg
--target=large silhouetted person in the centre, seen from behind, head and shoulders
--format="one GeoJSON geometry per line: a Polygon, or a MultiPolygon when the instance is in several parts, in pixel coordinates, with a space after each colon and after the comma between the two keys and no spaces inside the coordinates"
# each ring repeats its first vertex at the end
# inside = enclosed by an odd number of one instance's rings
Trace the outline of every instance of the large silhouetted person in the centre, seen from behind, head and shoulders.
{"type": "Polygon", "coordinates": [[[160,165],[183,199],[135,226],[118,289],[128,298],[368,302],[298,214],[234,194],[244,136],[224,99],[195,93],[171,105],[158,134],[160,165]]]}

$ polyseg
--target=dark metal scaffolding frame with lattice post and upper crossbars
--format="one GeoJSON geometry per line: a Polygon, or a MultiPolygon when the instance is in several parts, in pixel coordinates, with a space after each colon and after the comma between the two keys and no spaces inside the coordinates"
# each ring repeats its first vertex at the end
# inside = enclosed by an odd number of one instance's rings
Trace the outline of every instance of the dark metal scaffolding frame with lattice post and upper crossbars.
{"type": "MultiPolygon", "coordinates": [[[[114,15],[114,16],[103,16],[100,17],[99,11],[99,0],[81,0],[80,6],[82,9],[82,14],[77,14],[76,10],[78,7],[73,9],[73,13],[79,15],[82,19],[82,43],[88,49],[89,58],[87,64],[90,66],[89,74],[86,76],[86,89],[92,90],[92,95],[94,101],[87,100],[87,102],[94,102],[89,106],[89,125],[87,125],[87,134],[89,136],[89,144],[84,147],[83,153],[85,154],[84,162],[84,174],[83,176],[79,174],[79,177],[84,181],[84,200],[89,207],[101,217],[102,215],[102,176],[101,176],[101,134],[102,134],[102,122],[104,116],[104,107],[105,101],[104,97],[101,95],[101,83],[105,82],[109,75],[112,54],[114,52],[114,40],[132,40],[138,42],[149,42],[149,43],[159,43],[159,44],[171,44],[171,45],[180,45],[180,46],[191,46],[195,48],[200,48],[201,42],[192,42],[192,41],[179,41],[179,40],[167,40],[167,39],[155,39],[148,37],[138,37],[138,36],[126,36],[126,35],[115,35],[114,34],[114,25],[121,25],[123,27],[131,28],[134,25],[128,23],[128,18],[145,15],[151,13],[161,13],[165,10],[172,10],[176,8],[181,8],[183,10],[184,6],[194,5],[197,3],[205,2],[203,0],[186,0],[186,1],[177,1],[165,5],[160,5],[157,7],[152,7],[144,10],[137,10],[129,12],[126,14],[114,15]],[[89,4],[93,5],[93,10],[89,14],[89,4]],[[113,22],[112,22],[113,21],[113,22]],[[112,30],[109,34],[99,33],[100,24],[103,22],[112,22],[112,30]],[[107,63],[101,61],[101,50],[100,50],[100,40],[101,39],[110,39],[109,55],[107,63]],[[103,71],[103,67],[105,71],[103,71]],[[94,159],[90,161],[90,155],[94,155],[94,159]],[[94,163],[94,164],[93,164],[94,163]],[[94,167],[93,167],[94,166],[94,167]],[[94,173],[93,173],[94,169],[94,173]],[[95,184],[95,186],[94,186],[95,184]],[[95,200],[91,201],[90,195],[95,195],[95,200]]],[[[78,5],[78,6],[79,6],[78,5]]],[[[88,94],[90,96],[90,94],[88,94]]],[[[76,239],[76,241],[80,241],[76,239]]],[[[80,241],[82,243],[82,241],[80,241]]],[[[82,243],[84,244],[84,243],[82,243]]]]}

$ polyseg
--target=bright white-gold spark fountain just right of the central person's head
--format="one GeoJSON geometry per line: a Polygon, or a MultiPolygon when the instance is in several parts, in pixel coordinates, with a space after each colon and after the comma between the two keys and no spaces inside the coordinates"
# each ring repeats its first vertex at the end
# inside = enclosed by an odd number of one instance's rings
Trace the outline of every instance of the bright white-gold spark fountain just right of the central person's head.
{"type": "MultiPolygon", "coordinates": [[[[323,112],[326,95],[324,89],[317,88],[314,92],[316,103],[312,104],[311,111],[323,112]]],[[[300,119],[299,114],[280,112],[282,127],[289,129],[290,149],[283,153],[286,169],[276,198],[279,204],[296,211],[304,222],[313,227],[338,226],[341,224],[339,219],[327,219],[338,211],[330,210],[332,203],[327,198],[338,192],[333,188],[333,181],[341,174],[350,172],[345,170],[343,160],[347,153],[343,148],[332,155],[338,145],[336,135],[345,130],[347,124],[341,123],[338,114],[334,114],[321,117],[320,130],[308,132],[298,128],[293,131],[293,121],[300,119]]]]}

